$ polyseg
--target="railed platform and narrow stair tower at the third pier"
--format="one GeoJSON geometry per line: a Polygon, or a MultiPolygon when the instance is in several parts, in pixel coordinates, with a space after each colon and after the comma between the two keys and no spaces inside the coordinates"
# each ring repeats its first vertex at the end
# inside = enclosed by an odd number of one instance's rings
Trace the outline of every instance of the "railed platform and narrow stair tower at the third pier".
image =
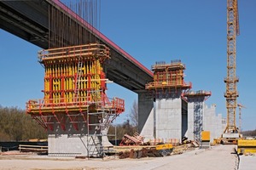
{"type": "Polygon", "coordinates": [[[192,91],[183,93],[183,97],[188,102],[194,103],[194,140],[201,142],[201,132],[203,131],[203,102],[212,95],[205,90],[192,91]]]}

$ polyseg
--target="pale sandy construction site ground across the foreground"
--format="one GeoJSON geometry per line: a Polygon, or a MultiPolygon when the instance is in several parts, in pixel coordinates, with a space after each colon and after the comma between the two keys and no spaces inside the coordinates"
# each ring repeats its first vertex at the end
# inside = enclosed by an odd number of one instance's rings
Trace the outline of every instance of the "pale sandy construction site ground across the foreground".
{"type": "Polygon", "coordinates": [[[0,169],[190,169],[190,170],[248,170],[255,169],[256,156],[240,156],[234,152],[235,145],[218,145],[210,149],[189,150],[180,155],[166,157],[146,157],[141,159],[119,159],[108,156],[104,159],[75,159],[71,157],[50,157],[19,155],[19,152],[2,154],[0,169]]]}

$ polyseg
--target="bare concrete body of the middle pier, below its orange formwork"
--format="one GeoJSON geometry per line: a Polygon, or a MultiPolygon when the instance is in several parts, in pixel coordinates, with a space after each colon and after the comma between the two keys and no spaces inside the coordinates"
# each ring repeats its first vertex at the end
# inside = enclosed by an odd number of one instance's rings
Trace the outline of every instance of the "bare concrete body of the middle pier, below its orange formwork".
{"type": "Polygon", "coordinates": [[[161,94],[156,99],[139,94],[139,130],[145,141],[160,139],[181,142],[188,130],[188,104],[180,92],[161,94]]]}

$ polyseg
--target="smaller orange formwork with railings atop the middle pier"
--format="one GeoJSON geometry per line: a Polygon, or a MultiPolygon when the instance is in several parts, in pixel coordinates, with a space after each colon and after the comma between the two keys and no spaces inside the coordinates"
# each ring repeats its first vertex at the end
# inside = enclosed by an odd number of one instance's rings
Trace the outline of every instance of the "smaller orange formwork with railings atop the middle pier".
{"type": "Polygon", "coordinates": [[[148,82],[145,88],[154,92],[155,96],[172,93],[177,89],[192,88],[191,82],[184,82],[185,65],[179,59],[172,60],[170,64],[166,64],[164,61],[156,62],[151,66],[151,70],[154,71],[154,82],[148,82]]]}

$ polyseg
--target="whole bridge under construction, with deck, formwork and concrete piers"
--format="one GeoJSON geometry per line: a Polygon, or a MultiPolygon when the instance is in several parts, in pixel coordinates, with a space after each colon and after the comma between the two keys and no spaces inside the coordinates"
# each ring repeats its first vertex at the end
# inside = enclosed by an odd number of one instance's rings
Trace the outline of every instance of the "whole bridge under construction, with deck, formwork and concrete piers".
{"type": "Polygon", "coordinates": [[[88,9],[98,4],[85,2],[0,2],[0,26],[44,48],[44,99],[28,100],[26,112],[47,130],[49,156],[104,156],[108,127],[125,111],[122,96],[108,98],[110,82],[138,94],[139,133],[148,141],[201,142],[202,131],[211,131],[211,140],[223,133],[222,116],[205,104],[211,92],[191,90],[181,60],[156,62],[149,71],[96,29],[88,9]]]}

